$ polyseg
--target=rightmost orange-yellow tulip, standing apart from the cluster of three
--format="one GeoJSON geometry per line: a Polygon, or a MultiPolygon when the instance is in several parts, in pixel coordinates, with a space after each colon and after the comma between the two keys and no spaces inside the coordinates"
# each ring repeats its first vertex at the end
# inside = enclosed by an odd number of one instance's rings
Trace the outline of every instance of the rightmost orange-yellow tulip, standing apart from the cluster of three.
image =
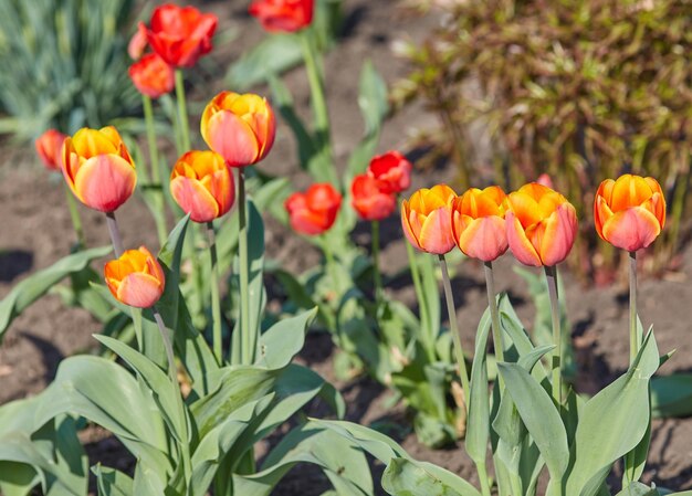
{"type": "Polygon", "coordinates": [[[653,178],[625,175],[600,183],[594,201],[598,235],[629,252],[649,246],[665,225],[665,198],[653,178]]]}

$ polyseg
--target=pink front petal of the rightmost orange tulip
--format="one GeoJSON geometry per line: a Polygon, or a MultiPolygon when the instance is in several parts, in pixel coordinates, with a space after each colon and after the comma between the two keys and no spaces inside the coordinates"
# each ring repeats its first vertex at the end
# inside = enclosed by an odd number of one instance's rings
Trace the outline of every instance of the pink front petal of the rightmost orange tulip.
{"type": "Polygon", "coordinates": [[[604,224],[604,239],[628,252],[649,246],[660,232],[657,218],[642,207],[617,212],[604,224]]]}

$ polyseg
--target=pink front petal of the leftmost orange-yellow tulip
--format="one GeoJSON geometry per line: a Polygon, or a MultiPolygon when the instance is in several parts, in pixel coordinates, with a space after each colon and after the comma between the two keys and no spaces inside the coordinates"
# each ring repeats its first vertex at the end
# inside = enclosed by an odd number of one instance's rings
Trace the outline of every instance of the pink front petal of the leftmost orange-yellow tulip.
{"type": "Polygon", "coordinates": [[[116,155],[98,155],[76,170],[74,191],[87,207],[113,212],[127,201],[136,183],[132,163],[116,155]]]}

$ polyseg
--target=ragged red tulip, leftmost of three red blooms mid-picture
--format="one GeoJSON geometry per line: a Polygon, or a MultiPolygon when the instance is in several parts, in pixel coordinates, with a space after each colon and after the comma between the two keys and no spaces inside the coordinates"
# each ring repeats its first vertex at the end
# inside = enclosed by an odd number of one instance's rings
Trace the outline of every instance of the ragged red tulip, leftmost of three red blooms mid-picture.
{"type": "Polygon", "coordinates": [[[342,196],[328,182],[313,184],[291,194],[284,203],[291,226],[301,234],[315,235],[328,231],[342,207],[342,196]]]}

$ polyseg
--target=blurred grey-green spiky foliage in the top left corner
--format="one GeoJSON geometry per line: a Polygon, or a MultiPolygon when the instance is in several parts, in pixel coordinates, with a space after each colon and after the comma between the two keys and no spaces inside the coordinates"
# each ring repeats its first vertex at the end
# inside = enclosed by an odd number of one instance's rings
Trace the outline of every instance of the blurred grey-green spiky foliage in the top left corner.
{"type": "Polygon", "coordinates": [[[134,0],[0,1],[0,134],[72,134],[141,105],[127,75],[134,0]]]}

